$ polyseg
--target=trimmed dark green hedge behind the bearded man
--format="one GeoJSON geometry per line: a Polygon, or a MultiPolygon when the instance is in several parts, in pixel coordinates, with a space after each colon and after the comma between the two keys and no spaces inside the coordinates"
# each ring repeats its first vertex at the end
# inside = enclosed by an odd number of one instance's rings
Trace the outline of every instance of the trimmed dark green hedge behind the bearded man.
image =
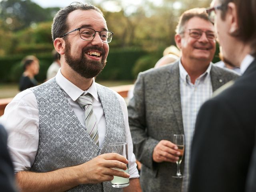
{"type": "MultiPolygon", "coordinates": [[[[144,56],[145,51],[138,48],[111,49],[108,62],[99,80],[133,80],[132,68],[138,58],[144,56]]],[[[51,53],[34,54],[40,60],[40,71],[35,77],[38,82],[44,82],[46,71],[52,63],[51,53]]],[[[0,82],[18,82],[23,72],[20,61],[24,54],[0,57],[0,82]]]]}

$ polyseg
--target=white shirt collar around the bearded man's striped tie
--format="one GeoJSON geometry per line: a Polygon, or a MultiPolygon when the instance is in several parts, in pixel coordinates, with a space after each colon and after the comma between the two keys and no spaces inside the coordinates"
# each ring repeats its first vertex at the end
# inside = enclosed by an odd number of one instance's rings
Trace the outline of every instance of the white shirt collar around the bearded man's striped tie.
{"type": "Polygon", "coordinates": [[[76,101],[79,96],[85,95],[86,93],[90,93],[94,97],[94,99],[96,99],[97,101],[99,100],[94,78],[92,81],[92,85],[86,91],[83,91],[82,89],[74,85],[72,82],[67,80],[62,75],[61,68],[58,70],[58,73],[56,74],[55,79],[58,85],[66,92],[66,94],[68,94],[68,96],[70,96],[70,98],[73,101],[76,101]]]}

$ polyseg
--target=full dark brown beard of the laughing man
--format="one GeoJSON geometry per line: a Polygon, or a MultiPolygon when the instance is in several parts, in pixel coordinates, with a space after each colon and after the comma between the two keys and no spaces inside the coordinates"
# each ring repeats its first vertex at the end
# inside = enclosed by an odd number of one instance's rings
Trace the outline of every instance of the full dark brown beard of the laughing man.
{"type": "Polygon", "coordinates": [[[98,46],[90,46],[82,49],[81,58],[73,58],[70,54],[70,43],[68,40],[65,42],[65,59],[68,65],[80,76],[84,78],[93,78],[96,77],[100,72],[102,72],[106,62],[105,58],[105,50],[102,47],[98,46]],[[88,60],[85,56],[88,50],[99,50],[101,52],[102,60],[101,61],[93,61],[88,60]]]}

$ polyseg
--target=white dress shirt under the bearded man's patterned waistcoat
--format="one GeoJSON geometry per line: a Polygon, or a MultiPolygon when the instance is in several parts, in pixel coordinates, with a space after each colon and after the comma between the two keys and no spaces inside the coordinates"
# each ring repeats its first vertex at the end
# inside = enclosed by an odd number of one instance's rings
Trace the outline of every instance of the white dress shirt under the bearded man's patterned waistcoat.
{"type": "MultiPolygon", "coordinates": [[[[87,92],[93,96],[92,107],[98,123],[99,147],[101,148],[106,134],[106,119],[102,104],[98,98],[94,80],[90,88],[83,91],[67,80],[59,70],[56,75],[56,82],[64,90],[68,102],[84,127],[84,110],[76,100],[80,95],[86,94],[87,92]]],[[[139,174],[133,154],[126,103],[118,93],[116,93],[116,96],[124,114],[130,178],[138,178],[139,174]]],[[[31,90],[24,90],[17,94],[12,102],[6,106],[4,115],[0,120],[9,132],[8,148],[13,160],[15,172],[28,170],[34,163],[39,139],[38,105],[34,93],[31,90]]]]}

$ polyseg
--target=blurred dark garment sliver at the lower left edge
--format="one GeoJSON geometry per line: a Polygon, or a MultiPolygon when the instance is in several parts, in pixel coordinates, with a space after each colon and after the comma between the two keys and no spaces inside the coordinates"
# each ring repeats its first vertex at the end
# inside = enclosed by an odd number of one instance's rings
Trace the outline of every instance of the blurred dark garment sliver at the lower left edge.
{"type": "Polygon", "coordinates": [[[0,191],[14,192],[14,170],[7,150],[7,134],[0,125],[0,191]]]}

